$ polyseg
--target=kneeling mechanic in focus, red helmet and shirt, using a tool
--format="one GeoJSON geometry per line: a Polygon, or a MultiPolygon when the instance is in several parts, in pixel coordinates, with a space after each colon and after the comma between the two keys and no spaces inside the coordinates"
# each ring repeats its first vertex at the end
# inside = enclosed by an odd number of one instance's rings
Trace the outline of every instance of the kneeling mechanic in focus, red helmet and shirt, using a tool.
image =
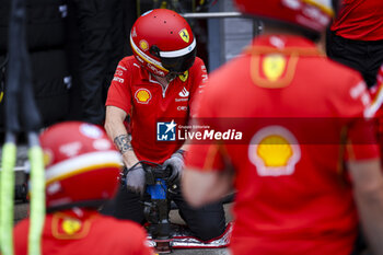
{"type": "MultiPolygon", "coordinates": [[[[167,119],[169,136],[175,123],[187,124],[207,71],[204,61],[196,57],[196,38],[190,26],[174,11],[156,9],[141,15],[131,28],[130,45],[134,56],[118,63],[106,100],[105,119],[105,129],[129,171],[116,199],[105,206],[104,212],[143,223],[141,195],[147,166],[139,162],[171,166],[171,178],[181,177],[185,147],[158,141],[156,124],[167,119]],[[130,116],[129,134],[125,126],[127,116],[130,116]]],[[[208,241],[224,232],[221,202],[195,210],[184,201],[179,188],[172,199],[196,237],[208,241]]]]}

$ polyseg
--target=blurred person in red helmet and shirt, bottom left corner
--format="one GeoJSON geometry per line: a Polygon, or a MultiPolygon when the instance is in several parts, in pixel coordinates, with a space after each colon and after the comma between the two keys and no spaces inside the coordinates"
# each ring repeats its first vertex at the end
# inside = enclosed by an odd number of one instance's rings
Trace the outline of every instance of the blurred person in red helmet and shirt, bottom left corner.
{"type": "MultiPolygon", "coordinates": [[[[103,129],[78,121],[57,124],[43,132],[40,144],[47,208],[43,255],[154,254],[139,224],[97,211],[115,195],[121,169],[120,154],[103,129]]],[[[14,229],[16,255],[27,254],[28,227],[30,219],[24,219],[14,229]]]]}

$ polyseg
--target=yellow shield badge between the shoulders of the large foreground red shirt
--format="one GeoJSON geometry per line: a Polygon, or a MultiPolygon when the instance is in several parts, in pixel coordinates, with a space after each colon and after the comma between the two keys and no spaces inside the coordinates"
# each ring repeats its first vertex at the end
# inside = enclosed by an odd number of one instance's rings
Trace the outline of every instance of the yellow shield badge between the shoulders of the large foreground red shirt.
{"type": "Polygon", "coordinates": [[[270,54],[262,62],[262,70],[269,81],[278,80],[286,69],[286,57],[280,54],[270,54]]]}

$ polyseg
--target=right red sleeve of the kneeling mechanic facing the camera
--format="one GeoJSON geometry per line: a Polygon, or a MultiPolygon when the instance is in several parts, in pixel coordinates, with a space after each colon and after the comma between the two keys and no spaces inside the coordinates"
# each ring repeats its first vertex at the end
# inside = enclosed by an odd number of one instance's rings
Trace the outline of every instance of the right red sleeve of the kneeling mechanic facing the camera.
{"type": "Polygon", "coordinates": [[[194,117],[198,112],[199,103],[198,97],[202,94],[204,88],[208,80],[208,73],[206,66],[200,58],[196,58],[196,62],[193,66],[193,84],[190,86],[190,117],[194,117]]]}

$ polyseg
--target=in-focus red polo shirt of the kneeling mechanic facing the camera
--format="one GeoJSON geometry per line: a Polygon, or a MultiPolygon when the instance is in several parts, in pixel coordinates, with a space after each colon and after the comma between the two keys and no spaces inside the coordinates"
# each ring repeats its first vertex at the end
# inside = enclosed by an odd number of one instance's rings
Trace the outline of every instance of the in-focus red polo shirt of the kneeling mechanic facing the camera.
{"type": "Polygon", "coordinates": [[[176,119],[177,125],[185,125],[206,80],[206,67],[198,57],[193,67],[184,76],[175,78],[166,90],[134,56],[118,63],[106,105],[121,108],[131,116],[131,144],[138,160],[163,163],[182,146],[158,141],[156,123],[176,119]]]}

